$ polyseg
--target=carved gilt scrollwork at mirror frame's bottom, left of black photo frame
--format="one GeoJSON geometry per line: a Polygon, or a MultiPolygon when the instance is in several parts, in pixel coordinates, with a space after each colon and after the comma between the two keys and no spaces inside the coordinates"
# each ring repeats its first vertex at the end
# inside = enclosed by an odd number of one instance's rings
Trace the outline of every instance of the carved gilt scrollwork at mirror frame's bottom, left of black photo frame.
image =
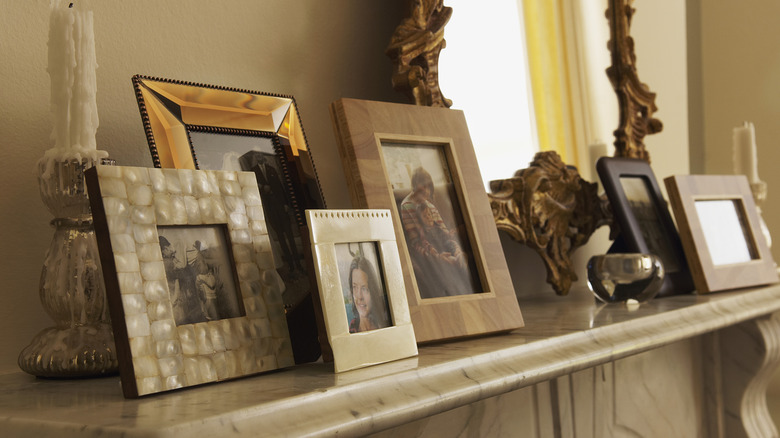
{"type": "Polygon", "coordinates": [[[611,223],[609,204],[598,185],[582,179],[553,151],[539,152],[526,169],[490,182],[490,206],[496,226],[535,250],[547,268],[547,282],[567,295],[577,274],[575,249],[611,223]]]}

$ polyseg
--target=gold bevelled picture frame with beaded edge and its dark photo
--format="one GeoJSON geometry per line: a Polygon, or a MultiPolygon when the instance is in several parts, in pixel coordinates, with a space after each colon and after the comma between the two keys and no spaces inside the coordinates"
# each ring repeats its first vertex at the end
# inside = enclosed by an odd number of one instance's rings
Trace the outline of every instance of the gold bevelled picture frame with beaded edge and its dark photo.
{"type": "Polygon", "coordinates": [[[325,201],[295,99],[141,75],[133,86],[155,167],[255,173],[296,361],[316,360],[304,211],[325,201]]]}

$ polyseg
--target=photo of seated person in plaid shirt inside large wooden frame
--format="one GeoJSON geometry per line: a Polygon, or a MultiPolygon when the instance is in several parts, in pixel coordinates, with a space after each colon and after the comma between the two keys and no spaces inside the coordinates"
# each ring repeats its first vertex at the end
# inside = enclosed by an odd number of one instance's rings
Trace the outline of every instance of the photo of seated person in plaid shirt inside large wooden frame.
{"type": "Polygon", "coordinates": [[[381,150],[420,297],[482,292],[443,147],[382,142],[381,150]]]}

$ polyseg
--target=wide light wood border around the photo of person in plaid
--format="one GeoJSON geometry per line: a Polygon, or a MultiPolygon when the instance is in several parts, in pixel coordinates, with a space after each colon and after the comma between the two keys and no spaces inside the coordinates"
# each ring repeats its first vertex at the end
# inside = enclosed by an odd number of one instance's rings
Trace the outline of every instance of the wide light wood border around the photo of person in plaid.
{"type": "Polygon", "coordinates": [[[331,115],[353,205],[392,212],[417,342],[522,327],[520,307],[463,112],[340,99],[331,105],[331,115]],[[383,141],[433,144],[444,149],[479,272],[481,293],[421,298],[381,151],[383,141]]]}

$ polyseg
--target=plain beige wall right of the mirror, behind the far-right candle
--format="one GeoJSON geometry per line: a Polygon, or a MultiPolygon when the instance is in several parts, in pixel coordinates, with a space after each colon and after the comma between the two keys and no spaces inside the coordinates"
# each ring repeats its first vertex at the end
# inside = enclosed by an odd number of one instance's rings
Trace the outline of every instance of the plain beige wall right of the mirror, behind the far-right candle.
{"type": "MultiPolygon", "coordinates": [[[[751,121],[756,128],[758,173],[768,184],[764,219],[775,240],[772,253],[780,260],[780,3],[689,1],[699,9],[698,50],[701,172],[732,172],[732,128],[751,121]]],[[[693,29],[692,29],[693,30],[693,29]]],[[[692,137],[694,138],[694,137],[692,137]]]]}

